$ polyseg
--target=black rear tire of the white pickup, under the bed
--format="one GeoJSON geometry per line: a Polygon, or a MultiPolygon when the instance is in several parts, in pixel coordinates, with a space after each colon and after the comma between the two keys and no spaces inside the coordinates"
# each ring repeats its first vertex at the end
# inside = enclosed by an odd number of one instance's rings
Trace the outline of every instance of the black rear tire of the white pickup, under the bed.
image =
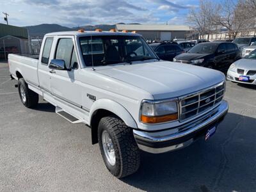
{"type": "Polygon", "coordinates": [[[27,108],[35,108],[39,100],[38,94],[33,92],[32,90],[29,90],[28,84],[23,78],[20,78],[18,81],[18,90],[22,104],[24,104],[24,106],[26,106],[27,108]],[[22,99],[22,91],[24,91],[26,99],[22,99]]]}

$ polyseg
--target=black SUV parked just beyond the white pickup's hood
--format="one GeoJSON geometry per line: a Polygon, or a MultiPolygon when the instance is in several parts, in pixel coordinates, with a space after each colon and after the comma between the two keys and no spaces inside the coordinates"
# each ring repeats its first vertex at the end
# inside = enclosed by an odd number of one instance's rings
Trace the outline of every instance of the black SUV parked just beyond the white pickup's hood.
{"type": "Polygon", "coordinates": [[[173,61],[217,70],[227,70],[234,61],[240,58],[236,44],[230,42],[207,42],[195,45],[188,52],[176,56],[173,61]]]}

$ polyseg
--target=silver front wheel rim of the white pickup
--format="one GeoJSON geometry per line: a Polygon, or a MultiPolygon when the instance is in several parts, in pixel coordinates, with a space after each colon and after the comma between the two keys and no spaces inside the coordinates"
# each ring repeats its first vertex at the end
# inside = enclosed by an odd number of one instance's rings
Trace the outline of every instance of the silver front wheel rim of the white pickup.
{"type": "Polygon", "coordinates": [[[115,150],[114,150],[113,142],[107,131],[102,132],[101,139],[102,139],[104,154],[107,157],[108,162],[113,166],[116,163],[115,150]]]}

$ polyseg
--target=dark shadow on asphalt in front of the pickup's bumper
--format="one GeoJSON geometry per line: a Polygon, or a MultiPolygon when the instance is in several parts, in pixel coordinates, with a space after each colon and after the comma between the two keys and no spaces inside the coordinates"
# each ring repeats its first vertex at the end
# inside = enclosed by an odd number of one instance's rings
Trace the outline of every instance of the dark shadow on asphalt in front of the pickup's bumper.
{"type": "Polygon", "coordinates": [[[140,170],[122,181],[145,191],[254,191],[255,125],[255,118],[228,113],[209,141],[167,154],[142,153],[140,170]]]}

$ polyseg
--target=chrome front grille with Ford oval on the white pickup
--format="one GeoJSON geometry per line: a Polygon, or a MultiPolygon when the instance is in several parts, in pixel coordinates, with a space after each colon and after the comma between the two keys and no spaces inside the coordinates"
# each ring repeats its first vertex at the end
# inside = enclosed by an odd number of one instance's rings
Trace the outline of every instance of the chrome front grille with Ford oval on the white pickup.
{"type": "Polygon", "coordinates": [[[180,122],[188,120],[220,104],[225,92],[225,83],[217,84],[201,92],[180,98],[180,122]]]}

